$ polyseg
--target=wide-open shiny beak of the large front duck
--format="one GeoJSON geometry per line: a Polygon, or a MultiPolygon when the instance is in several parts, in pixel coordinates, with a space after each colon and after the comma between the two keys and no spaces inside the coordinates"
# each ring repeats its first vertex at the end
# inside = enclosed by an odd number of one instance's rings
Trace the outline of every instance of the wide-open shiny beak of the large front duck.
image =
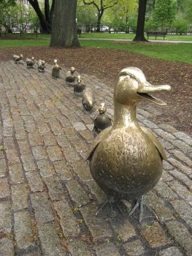
{"type": "Polygon", "coordinates": [[[140,84],[139,89],[137,90],[137,94],[139,94],[139,96],[142,98],[150,100],[150,102],[153,102],[157,105],[164,106],[166,105],[166,102],[164,102],[161,99],[152,97],[148,93],[155,92],[155,91],[170,91],[171,89],[172,89],[171,86],[168,86],[168,85],[153,86],[146,81],[140,84]]]}

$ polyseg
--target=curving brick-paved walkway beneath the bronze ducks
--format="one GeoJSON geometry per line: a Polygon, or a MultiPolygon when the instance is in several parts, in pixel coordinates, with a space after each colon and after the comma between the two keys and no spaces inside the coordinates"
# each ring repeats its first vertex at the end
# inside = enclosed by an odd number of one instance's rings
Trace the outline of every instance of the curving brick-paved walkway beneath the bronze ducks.
{"type": "MultiPolygon", "coordinates": [[[[85,162],[93,114],[47,66],[42,74],[13,61],[0,65],[0,255],[191,255],[192,138],[139,109],[169,155],[145,196],[158,221],[111,220],[107,209],[95,217],[104,193],[85,162]]],[[[82,78],[112,116],[112,89],[82,78]]]]}

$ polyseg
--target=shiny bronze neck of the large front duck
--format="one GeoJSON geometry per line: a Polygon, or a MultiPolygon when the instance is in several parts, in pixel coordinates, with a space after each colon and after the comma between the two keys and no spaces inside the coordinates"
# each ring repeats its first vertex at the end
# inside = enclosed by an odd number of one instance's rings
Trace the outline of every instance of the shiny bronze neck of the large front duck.
{"type": "Polygon", "coordinates": [[[137,105],[122,105],[115,102],[113,127],[135,127],[139,126],[137,122],[137,105]]]}

